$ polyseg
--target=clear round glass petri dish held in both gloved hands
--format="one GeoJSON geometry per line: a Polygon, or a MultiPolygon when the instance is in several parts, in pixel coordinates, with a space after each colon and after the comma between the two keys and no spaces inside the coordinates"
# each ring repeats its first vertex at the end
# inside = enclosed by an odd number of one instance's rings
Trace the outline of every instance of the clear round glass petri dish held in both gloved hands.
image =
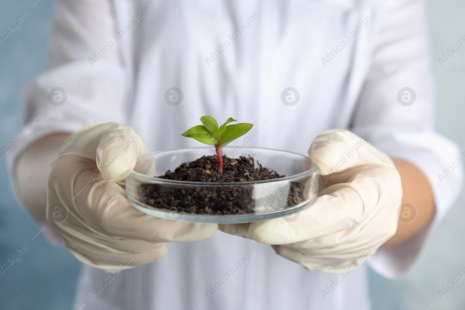
{"type": "Polygon", "coordinates": [[[153,152],[141,156],[126,178],[127,199],[137,210],[172,222],[231,224],[278,217],[286,217],[284,219],[290,222],[297,219],[298,212],[310,206],[318,197],[319,168],[308,156],[258,147],[226,146],[223,154],[231,158],[250,155],[255,159],[255,165],[259,160],[263,167],[285,177],[233,183],[187,182],[153,177],[163,175],[167,170],[174,171],[184,162],[214,154],[214,148],[208,146],[153,152]],[[150,195],[155,195],[164,202],[154,202],[154,199],[147,198],[147,192],[153,192],[150,195]],[[173,193],[186,204],[180,204],[180,200],[173,202],[173,193]],[[197,214],[189,211],[208,201],[213,205],[210,210],[214,213],[215,208],[220,209],[226,199],[231,201],[230,204],[238,206],[246,202],[248,211],[229,215],[197,214]]]}

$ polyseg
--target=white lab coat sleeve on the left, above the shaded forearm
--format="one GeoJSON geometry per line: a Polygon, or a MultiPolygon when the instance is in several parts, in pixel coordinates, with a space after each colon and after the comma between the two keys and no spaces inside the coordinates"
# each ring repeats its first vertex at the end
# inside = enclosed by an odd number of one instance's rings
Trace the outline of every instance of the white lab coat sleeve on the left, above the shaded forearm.
{"type": "Polygon", "coordinates": [[[6,158],[13,189],[15,161],[33,141],[56,132],[74,132],[97,121],[126,121],[123,102],[130,78],[112,37],[116,24],[112,3],[57,1],[46,72],[23,93],[27,133],[6,158]],[[109,41],[114,46],[109,47],[109,41]],[[55,87],[61,90],[55,92],[55,87]]]}

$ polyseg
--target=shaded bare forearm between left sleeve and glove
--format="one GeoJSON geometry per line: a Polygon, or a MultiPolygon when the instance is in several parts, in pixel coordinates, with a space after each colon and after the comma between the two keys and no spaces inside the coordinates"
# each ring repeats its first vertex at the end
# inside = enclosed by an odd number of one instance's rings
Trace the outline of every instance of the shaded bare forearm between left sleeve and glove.
{"type": "Polygon", "coordinates": [[[39,139],[16,160],[14,179],[18,196],[40,223],[46,223],[46,180],[50,164],[68,135],[56,133],[39,139]]]}

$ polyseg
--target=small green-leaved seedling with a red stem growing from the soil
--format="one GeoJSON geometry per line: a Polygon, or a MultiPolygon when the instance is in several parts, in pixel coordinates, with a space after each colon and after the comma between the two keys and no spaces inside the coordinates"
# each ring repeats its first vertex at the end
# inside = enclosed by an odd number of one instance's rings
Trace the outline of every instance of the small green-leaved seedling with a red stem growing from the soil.
{"type": "Polygon", "coordinates": [[[236,119],[229,118],[218,127],[218,123],[211,116],[202,116],[200,121],[203,125],[197,125],[184,132],[184,137],[194,138],[207,145],[215,145],[216,157],[218,158],[218,173],[223,174],[223,147],[233,142],[252,128],[252,124],[240,123],[228,125],[236,119]]]}

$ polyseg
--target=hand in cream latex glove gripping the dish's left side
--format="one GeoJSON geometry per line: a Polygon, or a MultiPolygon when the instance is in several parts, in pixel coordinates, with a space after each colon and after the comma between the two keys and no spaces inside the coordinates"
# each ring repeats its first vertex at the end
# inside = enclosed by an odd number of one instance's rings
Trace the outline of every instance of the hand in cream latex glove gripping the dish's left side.
{"type": "Polygon", "coordinates": [[[133,208],[124,183],[115,182],[146,153],[146,142],[130,127],[94,124],[71,135],[53,161],[47,221],[81,262],[115,272],[159,260],[168,242],[199,241],[217,231],[217,224],[172,223],[133,208]]]}

